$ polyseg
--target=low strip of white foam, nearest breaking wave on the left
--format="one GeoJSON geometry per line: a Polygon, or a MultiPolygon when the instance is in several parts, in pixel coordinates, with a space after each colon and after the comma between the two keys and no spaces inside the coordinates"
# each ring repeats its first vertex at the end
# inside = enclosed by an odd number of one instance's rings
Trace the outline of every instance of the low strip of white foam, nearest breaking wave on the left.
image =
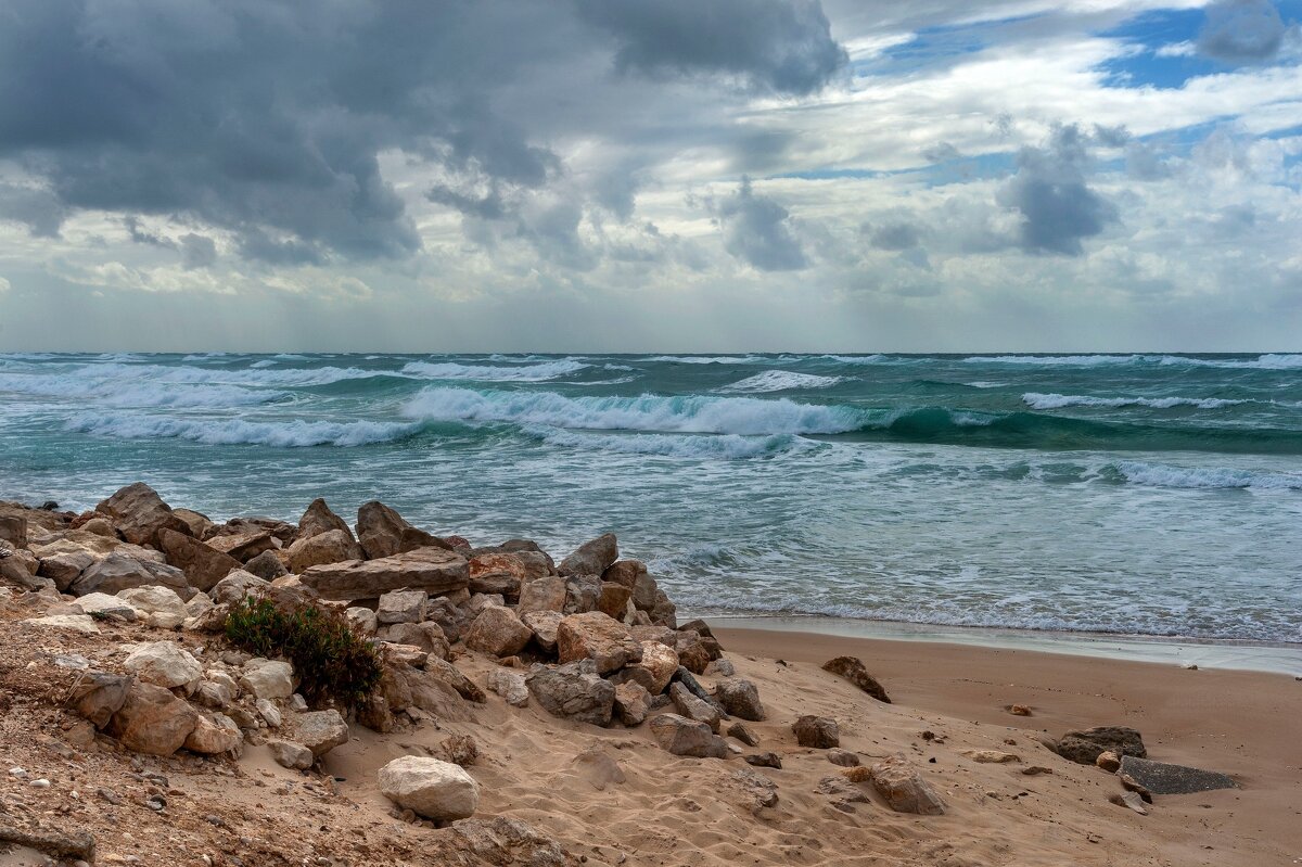
{"type": "Polygon", "coordinates": [[[396,422],[247,422],[243,419],[185,419],[165,415],[86,413],[68,420],[68,430],[128,440],[178,439],[204,445],[368,445],[391,443],[415,432],[418,424],[396,422]]]}

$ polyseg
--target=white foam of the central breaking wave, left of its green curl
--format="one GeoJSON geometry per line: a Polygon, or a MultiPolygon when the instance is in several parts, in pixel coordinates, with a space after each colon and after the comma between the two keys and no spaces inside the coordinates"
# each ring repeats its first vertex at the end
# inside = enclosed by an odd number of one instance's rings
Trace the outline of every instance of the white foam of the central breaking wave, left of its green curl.
{"type": "Polygon", "coordinates": [[[845,406],[755,397],[565,397],[555,392],[478,392],[426,388],[402,414],[408,418],[512,422],[560,428],[658,431],[672,434],[842,434],[863,423],[845,406]]]}

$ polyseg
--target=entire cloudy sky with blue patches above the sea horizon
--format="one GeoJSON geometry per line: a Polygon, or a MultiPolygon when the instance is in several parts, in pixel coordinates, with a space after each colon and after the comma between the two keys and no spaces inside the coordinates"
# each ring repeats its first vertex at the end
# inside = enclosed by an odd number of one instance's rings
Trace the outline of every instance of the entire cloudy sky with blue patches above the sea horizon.
{"type": "Polygon", "coordinates": [[[0,351],[1299,350],[1299,21],[7,0],[0,351]]]}

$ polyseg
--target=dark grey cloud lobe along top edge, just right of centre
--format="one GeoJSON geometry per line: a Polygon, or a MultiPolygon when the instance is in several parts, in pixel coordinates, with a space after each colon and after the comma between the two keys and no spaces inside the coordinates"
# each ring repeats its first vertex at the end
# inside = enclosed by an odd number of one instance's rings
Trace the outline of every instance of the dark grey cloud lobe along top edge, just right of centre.
{"type": "Polygon", "coordinates": [[[621,72],[724,74],[801,95],[848,60],[816,0],[578,0],[578,9],[615,36],[621,72]]]}

